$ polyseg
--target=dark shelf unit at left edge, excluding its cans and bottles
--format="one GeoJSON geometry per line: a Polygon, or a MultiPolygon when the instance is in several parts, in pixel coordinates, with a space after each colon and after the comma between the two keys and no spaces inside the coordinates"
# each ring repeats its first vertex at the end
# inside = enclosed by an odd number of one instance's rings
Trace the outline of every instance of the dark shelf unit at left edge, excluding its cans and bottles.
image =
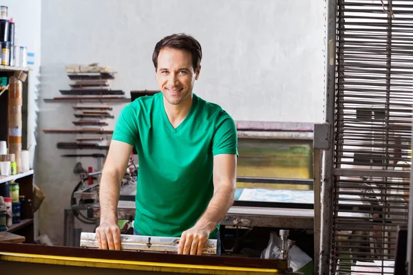
{"type": "MultiPolygon", "coordinates": [[[[21,146],[22,150],[28,149],[28,83],[30,80],[30,67],[10,67],[0,66],[0,77],[7,77],[10,80],[10,76],[14,72],[25,72],[28,77],[23,82],[23,106],[21,109],[22,118],[22,136],[21,146]]],[[[9,104],[8,90],[0,95],[0,140],[8,141],[8,104],[9,104]]],[[[20,223],[13,224],[8,228],[8,232],[13,232],[25,237],[25,243],[34,243],[34,212],[33,212],[33,183],[34,171],[29,170],[25,173],[19,173],[17,175],[0,176],[0,189],[3,190],[6,183],[9,181],[15,181],[19,183],[19,195],[25,196],[25,205],[21,206],[25,210],[25,219],[20,223]]]]}

